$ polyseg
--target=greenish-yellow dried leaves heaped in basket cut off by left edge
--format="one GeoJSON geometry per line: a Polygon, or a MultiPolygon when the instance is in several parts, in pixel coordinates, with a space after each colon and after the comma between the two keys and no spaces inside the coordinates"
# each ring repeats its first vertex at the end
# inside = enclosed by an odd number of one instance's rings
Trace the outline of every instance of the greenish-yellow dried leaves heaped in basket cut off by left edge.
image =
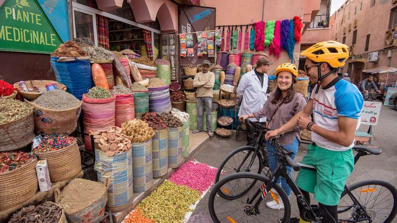
{"type": "Polygon", "coordinates": [[[0,99],[0,125],[18,120],[33,112],[33,107],[17,100],[0,99]]]}

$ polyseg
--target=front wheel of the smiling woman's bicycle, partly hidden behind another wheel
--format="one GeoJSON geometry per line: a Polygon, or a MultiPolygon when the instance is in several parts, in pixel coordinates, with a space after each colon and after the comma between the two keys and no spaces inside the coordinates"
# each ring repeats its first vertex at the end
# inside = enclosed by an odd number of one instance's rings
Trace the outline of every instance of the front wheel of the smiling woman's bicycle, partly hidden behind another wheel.
{"type": "MultiPolygon", "coordinates": [[[[254,153],[255,153],[255,148],[252,146],[243,146],[233,150],[226,157],[226,159],[223,160],[222,164],[218,167],[215,176],[215,183],[225,178],[226,176],[237,172],[261,173],[263,166],[262,166],[262,157],[260,153],[257,154],[254,163],[249,167],[249,164],[253,159],[254,153]]],[[[255,182],[253,182],[252,186],[254,186],[254,184],[255,182]]],[[[219,195],[225,199],[233,200],[238,198],[239,196],[242,196],[245,192],[247,192],[251,188],[252,187],[248,187],[246,191],[242,191],[240,194],[233,194],[233,195],[225,194],[221,191],[219,195]]]]}

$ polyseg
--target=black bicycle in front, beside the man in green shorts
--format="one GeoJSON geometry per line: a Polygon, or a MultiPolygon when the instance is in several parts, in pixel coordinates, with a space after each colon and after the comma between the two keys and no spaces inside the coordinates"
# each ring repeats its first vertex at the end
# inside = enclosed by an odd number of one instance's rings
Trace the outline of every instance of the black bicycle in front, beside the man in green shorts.
{"type": "MultiPolygon", "coordinates": [[[[280,176],[291,187],[298,202],[305,207],[306,219],[321,223],[322,216],[318,211],[318,205],[310,205],[287,174],[286,169],[287,166],[290,166],[295,171],[299,171],[301,168],[316,171],[316,167],[296,164],[290,158],[291,152],[278,144],[277,139],[272,139],[271,143],[275,146],[278,157],[278,167],[272,177],[269,178],[258,173],[240,172],[229,175],[215,184],[208,202],[209,213],[215,223],[288,223],[291,206],[285,192],[276,184],[280,176]],[[247,188],[250,189],[247,190],[247,188]],[[233,200],[225,199],[220,196],[222,193],[230,197],[239,196],[233,200]],[[275,204],[282,202],[284,209],[269,209],[263,203],[267,201],[275,201],[275,204]]],[[[357,152],[354,164],[362,156],[382,153],[382,149],[379,147],[356,146],[353,149],[357,152]]],[[[345,186],[338,204],[338,222],[390,223],[396,217],[396,199],[396,188],[385,181],[366,180],[345,186]]]]}

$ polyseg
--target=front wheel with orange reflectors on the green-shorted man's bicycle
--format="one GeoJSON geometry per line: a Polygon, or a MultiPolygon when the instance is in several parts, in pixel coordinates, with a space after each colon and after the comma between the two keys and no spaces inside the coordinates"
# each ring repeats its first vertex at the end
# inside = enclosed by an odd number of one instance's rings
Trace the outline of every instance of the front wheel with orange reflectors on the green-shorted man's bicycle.
{"type": "MultiPolygon", "coordinates": [[[[278,195],[269,192],[263,196],[262,185],[269,182],[269,178],[258,173],[241,172],[229,175],[218,183],[212,189],[209,200],[208,210],[212,220],[215,223],[241,223],[241,222],[265,222],[265,223],[287,223],[291,215],[291,206],[285,192],[277,184],[272,188],[278,195]],[[255,182],[254,187],[244,196],[227,200],[219,195],[224,193],[244,191],[255,182]],[[259,206],[256,208],[255,203],[262,198],[259,206]],[[266,206],[268,201],[276,201],[284,204],[284,209],[273,210],[266,206]]],[[[238,193],[238,192],[237,192],[238,193]]]]}

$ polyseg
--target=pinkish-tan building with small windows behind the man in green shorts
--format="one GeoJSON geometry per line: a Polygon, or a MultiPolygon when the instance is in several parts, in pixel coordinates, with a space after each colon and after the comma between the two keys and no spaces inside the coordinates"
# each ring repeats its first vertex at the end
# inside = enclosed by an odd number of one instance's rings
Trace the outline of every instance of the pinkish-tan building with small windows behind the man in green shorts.
{"type": "MultiPolygon", "coordinates": [[[[349,47],[349,59],[340,72],[349,73],[353,83],[367,77],[363,70],[397,67],[397,39],[393,39],[397,0],[347,0],[333,13],[331,23],[332,39],[349,47]]],[[[395,76],[389,81],[396,81],[395,76]]]]}

